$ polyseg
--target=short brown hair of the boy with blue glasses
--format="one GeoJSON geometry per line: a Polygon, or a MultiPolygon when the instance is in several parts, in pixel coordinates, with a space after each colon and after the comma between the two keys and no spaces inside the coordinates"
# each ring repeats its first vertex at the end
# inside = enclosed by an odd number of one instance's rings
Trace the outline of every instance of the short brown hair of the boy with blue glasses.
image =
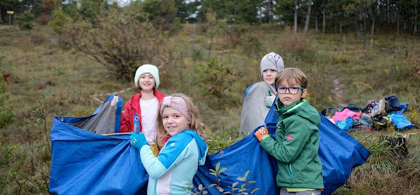
{"type": "Polygon", "coordinates": [[[280,73],[278,73],[275,77],[275,85],[280,86],[280,84],[284,81],[291,84],[289,82],[292,82],[293,80],[296,84],[300,85],[300,87],[308,87],[308,79],[306,79],[305,73],[303,73],[299,68],[286,68],[280,71],[280,73]]]}

